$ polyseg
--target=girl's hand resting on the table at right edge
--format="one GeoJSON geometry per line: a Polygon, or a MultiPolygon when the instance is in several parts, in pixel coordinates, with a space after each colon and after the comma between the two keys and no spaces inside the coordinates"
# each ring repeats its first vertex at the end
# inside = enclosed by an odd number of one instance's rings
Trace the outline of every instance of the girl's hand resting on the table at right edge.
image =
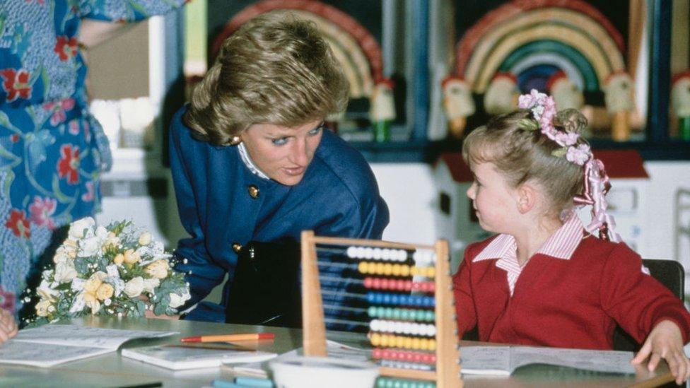
{"type": "Polygon", "coordinates": [[[663,358],[668,363],[672,375],[676,378],[676,384],[681,384],[690,377],[690,360],[683,350],[683,335],[674,322],[659,322],[652,329],[631,363],[640,364],[648,356],[650,359],[647,368],[650,371],[655,370],[663,358]]]}

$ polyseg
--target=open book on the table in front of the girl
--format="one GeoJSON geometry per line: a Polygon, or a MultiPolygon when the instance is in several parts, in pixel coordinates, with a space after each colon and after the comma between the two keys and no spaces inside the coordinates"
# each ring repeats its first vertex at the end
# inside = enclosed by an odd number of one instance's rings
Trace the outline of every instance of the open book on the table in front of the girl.
{"type": "Polygon", "coordinates": [[[463,346],[462,373],[468,375],[510,375],[530,364],[558,365],[581,370],[635,373],[632,352],[587,351],[532,346],[463,346]]]}

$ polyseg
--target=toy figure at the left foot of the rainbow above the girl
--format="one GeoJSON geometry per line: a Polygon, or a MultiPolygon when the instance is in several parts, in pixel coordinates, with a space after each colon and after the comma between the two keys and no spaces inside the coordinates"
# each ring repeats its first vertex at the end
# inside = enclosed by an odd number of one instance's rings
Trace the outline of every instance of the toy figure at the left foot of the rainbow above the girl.
{"type": "Polygon", "coordinates": [[[457,76],[445,78],[443,87],[443,111],[448,118],[448,134],[453,139],[462,139],[467,117],[476,111],[472,99],[472,89],[467,82],[457,76]]]}

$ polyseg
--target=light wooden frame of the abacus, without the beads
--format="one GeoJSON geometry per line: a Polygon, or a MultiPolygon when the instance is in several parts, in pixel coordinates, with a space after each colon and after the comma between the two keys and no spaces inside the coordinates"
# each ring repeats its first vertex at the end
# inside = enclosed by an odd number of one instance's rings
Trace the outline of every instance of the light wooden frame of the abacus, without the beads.
{"type": "Polygon", "coordinates": [[[326,325],[321,298],[317,244],[358,245],[391,249],[431,249],[435,261],[435,371],[381,367],[380,375],[411,380],[435,381],[438,388],[460,387],[460,340],[457,336],[455,307],[450,283],[448,241],[437,240],[435,245],[405,244],[380,240],[362,240],[338,237],[317,237],[312,230],[302,232],[302,329],[304,355],[326,357],[326,325]],[[455,362],[452,362],[455,360],[455,362]]]}

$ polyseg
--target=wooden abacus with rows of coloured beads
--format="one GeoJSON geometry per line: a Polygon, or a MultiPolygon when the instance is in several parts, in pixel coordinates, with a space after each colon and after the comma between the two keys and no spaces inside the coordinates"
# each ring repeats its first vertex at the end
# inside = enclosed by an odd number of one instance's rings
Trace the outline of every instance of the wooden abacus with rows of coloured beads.
{"type": "Polygon", "coordinates": [[[460,341],[450,283],[448,242],[438,240],[433,246],[411,245],[316,237],[312,231],[305,230],[301,247],[304,355],[327,356],[317,252],[321,249],[329,254],[339,252],[342,257],[358,261],[356,269],[360,274],[373,275],[361,281],[364,288],[394,291],[368,291],[363,297],[368,302],[408,307],[371,306],[367,309],[368,317],[372,318],[369,322],[369,339],[374,346],[373,358],[381,360],[380,375],[433,381],[439,388],[462,387],[460,341]],[[317,248],[317,245],[323,248],[317,248]],[[433,266],[422,266],[434,261],[433,266]],[[420,281],[422,278],[432,280],[420,281]],[[415,294],[409,294],[410,291],[415,294]],[[433,296],[428,296],[430,294],[433,296]],[[411,336],[395,335],[401,333],[411,336]],[[410,348],[415,351],[399,350],[410,348]]]}

